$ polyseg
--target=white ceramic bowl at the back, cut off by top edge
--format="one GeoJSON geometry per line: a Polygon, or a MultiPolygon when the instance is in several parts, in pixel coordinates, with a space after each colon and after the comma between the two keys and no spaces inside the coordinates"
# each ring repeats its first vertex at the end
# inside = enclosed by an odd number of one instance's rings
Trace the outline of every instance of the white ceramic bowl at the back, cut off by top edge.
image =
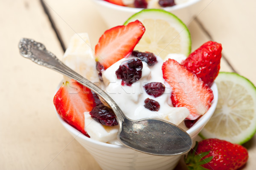
{"type": "MultiPolygon", "coordinates": [[[[131,8],[126,6],[118,6],[105,0],[92,0],[96,9],[105,20],[109,28],[123,25],[123,23],[131,17],[131,15],[140,12],[140,8],[131,8]]],[[[186,25],[189,24],[193,17],[202,10],[201,5],[204,0],[189,0],[175,6],[163,8],[164,10],[175,14],[186,25]]]]}

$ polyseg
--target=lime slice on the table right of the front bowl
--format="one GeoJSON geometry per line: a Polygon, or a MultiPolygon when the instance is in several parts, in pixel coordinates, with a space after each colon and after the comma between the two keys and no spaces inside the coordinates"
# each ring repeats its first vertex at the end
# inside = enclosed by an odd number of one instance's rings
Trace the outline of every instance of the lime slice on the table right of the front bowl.
{"type": "Polygon", "coordinates": [[[256,132],[256,87],[230,72],[220,72],[215,83],[218,104],[200,135],[243,144],[256,132]]]}

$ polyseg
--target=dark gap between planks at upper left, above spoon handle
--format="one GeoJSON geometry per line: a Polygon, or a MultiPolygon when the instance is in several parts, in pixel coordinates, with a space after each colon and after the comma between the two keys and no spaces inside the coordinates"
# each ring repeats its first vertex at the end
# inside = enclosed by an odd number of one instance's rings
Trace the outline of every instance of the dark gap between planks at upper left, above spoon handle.
{"type": "Polygon", "coordinates": [[[63,41],[63,39],[62,39],[62,37],[61,37],[60,32],[58,31],[58,28],[57,28],[57,26],[56,26],[54,20],[52,19],[52,16],[51,16],[51,14],[50,14],[50,12],[49,12],[49,9],[47,8],[47,5],[46,5],[46,3],[44,2],[44,0],[40,0],[40,2],[41,2],[41,5],[42,5],[42,7],[43,7],[43,9],[44,9],[45,14],[47,14],[47,16],[48,16],[48,19],[49,19],[49,21],[50,21],[50,23],[51,23],[52,29],[54,30],[55,35],[56,35],[57,38],[58,38],[58,41],[59,41],[59,43],[60,43],[60,45],[61,45],[61,48],[62,48],[63,52],[65,52],[65,51],[66,51],[66,46],[65,46],[65,44],[64,44],[64,41],[63,41]]]}

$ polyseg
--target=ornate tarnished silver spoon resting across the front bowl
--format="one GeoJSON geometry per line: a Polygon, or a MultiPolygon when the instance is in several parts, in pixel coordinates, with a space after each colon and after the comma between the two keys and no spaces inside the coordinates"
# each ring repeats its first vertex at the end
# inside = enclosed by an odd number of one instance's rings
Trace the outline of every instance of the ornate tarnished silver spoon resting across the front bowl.
{"type": "Polygon", "coordinates": [[[159,119],[134,121],[127,118],[108,94],[58,60],[42,43],[22,38],[19,49],[23,57],[78,81],[105,100],[115,112],[119,122],[117,138],[126,147],[158,156],[180,155],[191,149],[191,137],[175,124],[159,119]]]}

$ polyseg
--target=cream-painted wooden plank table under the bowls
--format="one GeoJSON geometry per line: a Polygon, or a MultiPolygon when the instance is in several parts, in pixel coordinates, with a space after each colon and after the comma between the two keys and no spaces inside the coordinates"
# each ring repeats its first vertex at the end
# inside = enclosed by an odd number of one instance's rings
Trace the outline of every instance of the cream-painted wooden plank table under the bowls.
{"type": "MultiPolygon", "coordinates": [[[[256,2],[208,0],[207,4],[188,25],[192,50],[207,40],[221,43],[221,71],[238,72],[256,84],[256,2]]],[[[94,46],[107,29],[94,4],[1,0],[0,23],[0,169],[100,169],[55,115],[52,100],[62,76],[22,58],[17,48],[21,37],[33,38],[61,58],[77,32],[88,32],[94,46]]],[[[255,169],[255,136],[244,146],[250,157],[243,169],[255,169]]],[[[181,161],[176,169],[186,168],[181,161]]]]}

